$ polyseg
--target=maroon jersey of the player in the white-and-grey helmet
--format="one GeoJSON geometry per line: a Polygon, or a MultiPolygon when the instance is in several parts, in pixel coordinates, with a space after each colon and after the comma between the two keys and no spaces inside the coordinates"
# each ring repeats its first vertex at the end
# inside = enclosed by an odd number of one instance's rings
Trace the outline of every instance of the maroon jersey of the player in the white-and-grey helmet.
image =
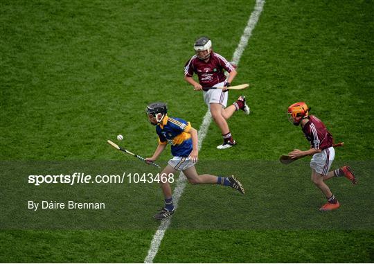
{"type": "Polygon", "coordinates": [[[208,62],[200,60],[197,58],[197,55],[190,58],[184,67],[184,75],[192,77],[193,73],[196,73],[202,87],[213,87],[213,85],[217,85],[217,83],[226,80],[224,70],[230,73],[234,69],[235,68],[230,62],[228,62],[220,54],[212,51],[208,62]]]}

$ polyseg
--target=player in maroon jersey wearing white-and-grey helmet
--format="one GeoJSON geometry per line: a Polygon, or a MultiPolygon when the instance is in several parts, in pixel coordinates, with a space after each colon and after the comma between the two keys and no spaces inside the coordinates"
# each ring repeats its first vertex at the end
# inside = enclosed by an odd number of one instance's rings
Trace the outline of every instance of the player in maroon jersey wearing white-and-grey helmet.
{"type": "Polygon", "coordinates": [[[245,96],[240,96],[235,103],[226,107],[229,97],[226,87],[230,86],[237,71],[222,55],[212,51],[212,42],[208,37],[199,37],[195,42],[194,49],[196,55],[193,55],[184,67],[184,80],[193,85],[195,91],[203,90],[204,92],[204,101],[211,111],[213,120],[220,127],[224,139],[224,143],[217,146],[217,148],[230,148],[236,144],[236,141],[231,136],[226,120],[239,109],[249,114],[245,96]],[[229,73],[227,78],[224,75],[224,71],[229,73]],[[193,79],[194,73],[197,74],[199,82],[193,79]],[[224,89],[204,91],[205,87],[224,87],[224,89]]]}

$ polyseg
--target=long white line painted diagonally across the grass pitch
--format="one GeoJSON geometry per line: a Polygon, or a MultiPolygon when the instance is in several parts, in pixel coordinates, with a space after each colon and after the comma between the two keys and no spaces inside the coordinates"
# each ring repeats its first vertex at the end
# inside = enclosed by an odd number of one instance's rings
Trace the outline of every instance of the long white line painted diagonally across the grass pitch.
{"type": "MultiPolygon", "coordinates": [[[[240,37],[240,42],[238,47],[235,49],[233,53],[233,59],[231,60],[236,65],[238,65],[240,57],[244,49],[247,47],[249,37],[252,35],[252,30],[256,26],[258,22],[258,18],[262,12],[262,8],[265,4],[265,0],[256,0],[256,6],[251,13],[251,16],[248,19],[247,26],[244,28],[244,33],[242,37],[240,37]]],[[[198,132],[198,149],[202,148],[202,141],[205,139],[206,134],[208,133],[208,127],[211,124],[211,112],[208,110],[204,116],[204,120],[202,125],[200,125],[199,132],[198,132]]],[[[183,173],[180,173],[179,179],[177,181],[177,186],[175,187],[172,195],[172,200],[174,202],[175,209],[178,208],[179,198],[181,197],[182,193],[184,192],[184,188],[186,187],[187,180],[186,176],[183,173]]],[[[145,257],[144,263],[153,263],[153,258],[156,256],[157,252],[159,251],[159,247],[161,245],[161,241],[163,236],[165,235],[166,229],[168,229],[170,225],[171,217],[161,220],[161,224],[159,229],[157,229],[156,233],[152,238],[152,242],[150,245],[150,249],[148,250],[148,256],[145,257]]]]}

